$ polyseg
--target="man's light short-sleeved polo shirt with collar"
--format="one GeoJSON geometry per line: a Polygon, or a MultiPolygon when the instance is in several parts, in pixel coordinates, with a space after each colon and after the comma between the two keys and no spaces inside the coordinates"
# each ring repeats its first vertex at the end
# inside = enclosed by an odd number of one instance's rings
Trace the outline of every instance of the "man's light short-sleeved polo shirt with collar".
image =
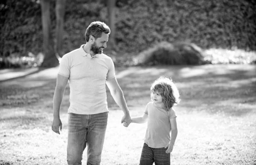
{"type": "Polygon", "coordinates": [[[61,58],[58,74],[69,78],[68,113],[97,114],[108,112],[106,80],[115,78],[113,61],[105,54],[93,57],[79,49],[61,58]]]}

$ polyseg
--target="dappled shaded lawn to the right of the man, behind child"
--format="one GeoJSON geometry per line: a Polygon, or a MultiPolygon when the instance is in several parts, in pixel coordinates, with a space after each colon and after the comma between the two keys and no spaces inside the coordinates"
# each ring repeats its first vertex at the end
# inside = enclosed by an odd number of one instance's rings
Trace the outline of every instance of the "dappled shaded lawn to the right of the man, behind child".
{"type": "MultiPolygon", "coordinates": [[[[176,82],[181,98],[178,106],[183,110],[241,116],[256,105],[255,70],[250,65],[134,67],[116,77],[130,109],[150,101],[151,83],[164,75],[176,82]]],[[[118,109],[108,96],[109,107],[118,109]]]]}

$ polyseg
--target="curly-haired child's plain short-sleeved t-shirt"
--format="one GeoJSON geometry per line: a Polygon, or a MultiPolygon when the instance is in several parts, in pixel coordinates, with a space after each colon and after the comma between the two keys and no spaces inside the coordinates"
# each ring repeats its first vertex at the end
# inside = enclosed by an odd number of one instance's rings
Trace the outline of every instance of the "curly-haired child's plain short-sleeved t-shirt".
{"type": "Polygon", "coordinates": [[[177,117],[175,110],[169,111],[163,107],[157,107],[154,102],[149,102],[145,108],[145,114],[148,115],[148,127],[144,142],[151,148],[164,148],[171,141],[170,119],[177,117]]]}

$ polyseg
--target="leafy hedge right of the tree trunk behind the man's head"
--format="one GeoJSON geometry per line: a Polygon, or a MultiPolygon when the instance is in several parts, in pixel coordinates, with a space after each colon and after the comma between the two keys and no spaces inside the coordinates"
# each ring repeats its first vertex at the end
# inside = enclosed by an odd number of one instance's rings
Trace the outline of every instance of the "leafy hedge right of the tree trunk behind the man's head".
{"type": "Polygon", "coordinates": [[[118,47],[140,52],[187,41],[202,48],[256,50],[254,0],[129,0],[117,14],[118,47]]]}

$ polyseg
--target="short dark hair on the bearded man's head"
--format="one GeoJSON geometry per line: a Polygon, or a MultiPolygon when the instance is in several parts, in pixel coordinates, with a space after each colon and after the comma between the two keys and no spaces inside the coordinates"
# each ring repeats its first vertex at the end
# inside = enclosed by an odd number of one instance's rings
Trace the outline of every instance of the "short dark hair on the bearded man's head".
{"type": "Polygon", "coordinates": [[[102,32],[106,34],[110,34],[110,28],[104,22],[94,21],[92,22],[86,29],[85,32],[85,40],[89,41],[90,35],[92,35],[95,39],[100,38],[102,36],[102,32]]]}

